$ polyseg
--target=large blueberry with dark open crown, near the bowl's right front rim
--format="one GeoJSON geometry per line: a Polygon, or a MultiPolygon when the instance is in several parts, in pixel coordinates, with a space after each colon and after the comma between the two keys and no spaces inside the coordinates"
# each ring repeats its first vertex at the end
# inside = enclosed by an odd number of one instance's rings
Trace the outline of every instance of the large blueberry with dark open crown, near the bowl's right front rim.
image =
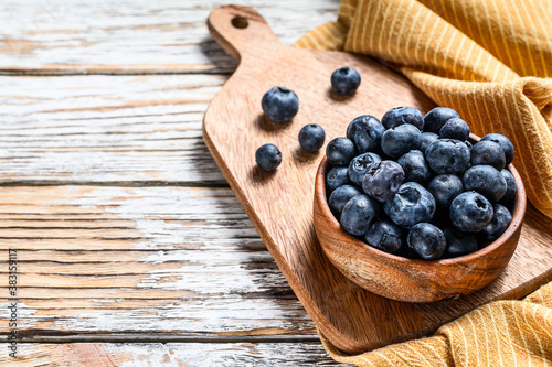
{"type": "Polygon", "coordinates": [[[450,220],[463,231],[479,231],[487,227],[495,211],[484,195],[475,192],[461,193],[450,204],[450,220]]]}

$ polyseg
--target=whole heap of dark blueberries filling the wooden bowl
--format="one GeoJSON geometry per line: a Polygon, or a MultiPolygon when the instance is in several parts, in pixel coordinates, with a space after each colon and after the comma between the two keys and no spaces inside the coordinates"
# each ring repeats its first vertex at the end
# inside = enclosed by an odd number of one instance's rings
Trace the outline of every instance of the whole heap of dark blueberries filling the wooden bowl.
{"type": "Polygon", "coordinates": [[[435,260],[482,248],[512,219],[513,145],[498,133],[475,144],[468,137],[450,108],[355,118],[326,149],[330,209],[346,231],[385,252],[435,260]]]}

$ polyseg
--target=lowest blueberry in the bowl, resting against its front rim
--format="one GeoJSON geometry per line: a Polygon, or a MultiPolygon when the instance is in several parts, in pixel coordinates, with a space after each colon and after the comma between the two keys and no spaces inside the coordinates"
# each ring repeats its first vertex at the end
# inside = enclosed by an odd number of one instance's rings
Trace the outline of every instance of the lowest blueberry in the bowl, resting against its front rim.
{"type": "Polygon", "coordinates": [[[408,247],[424,260],[436,260],[445,252],[447,241],[443,231],[429,223],[418,223],[406,238],[408,247]]]}

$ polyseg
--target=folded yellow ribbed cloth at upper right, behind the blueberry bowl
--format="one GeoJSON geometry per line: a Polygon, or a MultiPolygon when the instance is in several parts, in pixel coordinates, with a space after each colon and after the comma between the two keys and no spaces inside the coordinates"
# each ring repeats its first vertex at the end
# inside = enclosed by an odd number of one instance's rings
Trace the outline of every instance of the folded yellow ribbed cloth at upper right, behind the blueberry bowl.
{"type": "Polygon", "coordinates": [[[342,0],[296,46],[391,62],[476,134],[509,137],[529,199],[552,217],[552,0],[342,0]]]}

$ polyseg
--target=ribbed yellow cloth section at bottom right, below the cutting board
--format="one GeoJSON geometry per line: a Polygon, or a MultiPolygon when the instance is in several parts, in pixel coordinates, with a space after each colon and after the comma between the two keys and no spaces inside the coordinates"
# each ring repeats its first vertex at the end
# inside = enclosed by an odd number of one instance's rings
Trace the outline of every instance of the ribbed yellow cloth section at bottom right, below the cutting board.
{"type": "Polygon", "coordinates": [[[358,366],[552,366],[552,283],[523,301],[498,301],[442,326],[434,336],[358,356],[338,350],[322,334],[329,355],[358,366]]]}

